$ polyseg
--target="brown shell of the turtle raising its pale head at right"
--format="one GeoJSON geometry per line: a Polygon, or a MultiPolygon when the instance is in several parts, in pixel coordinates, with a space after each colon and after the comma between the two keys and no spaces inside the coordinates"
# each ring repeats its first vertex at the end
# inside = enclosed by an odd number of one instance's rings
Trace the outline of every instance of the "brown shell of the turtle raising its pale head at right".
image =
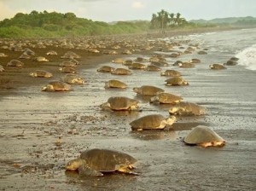
{"type": "Polygon", "coordinates": [[[161,124],[164,120],[166,119],[160,114],[151,114],[135,119],[130,125],[132,130],[161,130],[166,127],[161,124]]]}

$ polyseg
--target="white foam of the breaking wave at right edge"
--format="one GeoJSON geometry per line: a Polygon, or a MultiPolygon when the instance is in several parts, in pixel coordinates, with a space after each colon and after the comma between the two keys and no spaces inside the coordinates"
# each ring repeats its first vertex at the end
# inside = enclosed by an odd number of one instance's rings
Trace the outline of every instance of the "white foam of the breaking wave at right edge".
{"type": "Polygon", "coordinates": [[[256,71],[256,44],[241,50],[236,54],[236,58],[239,58],[238,65],[244,66],[249,70],[256,71]]]}

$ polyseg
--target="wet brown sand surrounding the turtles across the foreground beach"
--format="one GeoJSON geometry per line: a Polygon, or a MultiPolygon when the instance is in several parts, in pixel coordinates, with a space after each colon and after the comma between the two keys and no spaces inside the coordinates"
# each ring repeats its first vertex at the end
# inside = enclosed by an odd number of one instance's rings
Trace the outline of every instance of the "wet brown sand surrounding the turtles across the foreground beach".
{"type": "MultiPolygon", "coordinates": [[[[182,44],[186,46],[187,44],[182,44]]],[[[203,47],[202,47],[203,48],[203,47]]],[[[201,48],[201,49],[202,49],[201,48]]],[[[1,190],[253,190],[256,186],[256,81],[253,71],[228,67],[224,71],[208,68],[208,55],[196,52],[177,60],[201,59],[195,68],[177,69],[189,86],[167,87],[160,72],[132,70],[130,76],[96,72],[113,64],[115,57],[148,58],[154,51],[136,51],[133,55],[102,55],[81,49],[32,49],[50,62],[24,61],[21,69],[5,64],[21,52],[0,49],[9,57],[0,58],[6,71],[0,73],[0,189],[1,190]],[[55,49],[59,55],[45,55],[55,49]],[[48,78],[31,78],[34,69],[57,72],[60,58],[67,50],[81,55],[79,75],[86,83],[73,85],[69,92],[41,92],[48,78]],[[116,78],[128,84],[126,90],[105,90],[104,82],[116,78]],[[148,103],[136,96],[133,87],[153,84],[207,107],[207,115],[179,117],[176,127],[186,130],[133,132],[129,123],[150,113],[168,116],[168,106],[148,103]],[[128,96],[140,101],[142,112],[108,112],[98,106],[109,96],[128,96]],[[226,140],[223,148],[199,148],[184,145],[182,137],[197,124],[207,124],[226,140]],[[65,172],[68,160],[87,148],[113,148],[135,157],[140,176],[108,175],[79,177],[65,172]]],[[[154,49],[153,49],[154,50],[154,49]]],[[[159,52],[158,52],[159,53],[159,52]]],[[[226,59],[226,58],[224,58],[226,59]]],[[[174,125],[174,126],[175,126],[174,125]]]]}

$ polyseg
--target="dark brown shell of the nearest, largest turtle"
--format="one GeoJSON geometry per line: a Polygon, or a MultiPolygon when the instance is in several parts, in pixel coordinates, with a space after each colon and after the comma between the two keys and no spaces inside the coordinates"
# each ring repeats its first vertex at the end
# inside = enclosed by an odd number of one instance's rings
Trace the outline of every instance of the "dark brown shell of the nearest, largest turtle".
{"type": "Polygon", "coordinates": [[[102,172],[116,171],[119,165],[129,166],[137,162],[137,159],[127,153],[100,148],[84,151],[80,159],[84,159],[91,169],[102,172]]]}

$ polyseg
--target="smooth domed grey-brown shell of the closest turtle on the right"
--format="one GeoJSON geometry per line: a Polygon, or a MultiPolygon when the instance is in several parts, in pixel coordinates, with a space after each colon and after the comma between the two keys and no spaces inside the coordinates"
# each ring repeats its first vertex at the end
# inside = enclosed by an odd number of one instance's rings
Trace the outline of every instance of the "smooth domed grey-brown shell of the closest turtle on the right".
{"type": "Polygon", "coordinates": [[[199,125],[193,128],[183,141],[187,144],[196,145],[203,142],[224,142],[224,139],[209,127],[199,125]]]}

